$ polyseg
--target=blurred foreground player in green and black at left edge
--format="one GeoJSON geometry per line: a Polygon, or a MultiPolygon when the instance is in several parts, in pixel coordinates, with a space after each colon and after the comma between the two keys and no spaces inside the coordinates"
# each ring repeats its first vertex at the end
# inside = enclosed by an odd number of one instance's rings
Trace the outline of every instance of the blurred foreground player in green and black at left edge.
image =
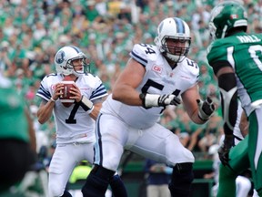
{"type": "Polygon", "coordinates": [[[0,196],[35,162],[35,130],[25,99],[0,72],[0,196]]]}

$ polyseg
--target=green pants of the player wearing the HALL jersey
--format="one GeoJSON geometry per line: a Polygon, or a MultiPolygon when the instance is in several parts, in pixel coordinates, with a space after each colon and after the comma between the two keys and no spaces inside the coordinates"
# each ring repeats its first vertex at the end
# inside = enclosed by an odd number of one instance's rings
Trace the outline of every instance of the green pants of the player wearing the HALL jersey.
{"type": "Polygon", "coordinates": [[[262,109],[254,110],[248,121],[249,134],[229,152],[230,168],[220,164],[217,197],[236,196],[237,175],[248,168],[251,168],[255,189],[262,197],[262,109]]]}

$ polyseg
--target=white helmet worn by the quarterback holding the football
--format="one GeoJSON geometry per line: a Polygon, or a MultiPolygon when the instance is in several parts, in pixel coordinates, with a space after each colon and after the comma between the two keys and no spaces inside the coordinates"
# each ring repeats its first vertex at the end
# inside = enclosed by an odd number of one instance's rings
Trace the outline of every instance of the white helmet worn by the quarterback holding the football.
{"type": "Polygon", "coordinates": [[[55,70],[65,76],[74,74],[76,77],[80,77],[86,70],[86,55],[78,47],[62,47],[55,54],[55,70]],[[81,70],[76,70],[72,64],[72,60],[75,59],[82,59],[81,70]]]}

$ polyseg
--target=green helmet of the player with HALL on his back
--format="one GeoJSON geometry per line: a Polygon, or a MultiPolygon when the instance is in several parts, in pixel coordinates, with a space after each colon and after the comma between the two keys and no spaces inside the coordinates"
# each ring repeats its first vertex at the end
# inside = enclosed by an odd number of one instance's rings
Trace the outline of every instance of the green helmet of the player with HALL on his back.
{"type": "Polygon", "coordinates": [[[247,12],[237,2],[223,2],[213,8],[209,22],[212,39],[223,38],[234,27],[244,26],[247,31],[247,12]]]}

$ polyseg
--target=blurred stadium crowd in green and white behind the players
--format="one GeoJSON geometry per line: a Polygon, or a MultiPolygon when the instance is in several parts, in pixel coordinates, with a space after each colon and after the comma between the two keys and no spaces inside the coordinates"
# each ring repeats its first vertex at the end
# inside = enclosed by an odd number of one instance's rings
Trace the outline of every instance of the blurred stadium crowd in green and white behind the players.
{"type": "MultiPolygon", "coordinates": [[[[0,69],[14,80],[35,119],[38,150],[54,146],[54,119],[44,125],[35,113],[35,93],[45,75],[55,72],[55,52],[66,45],[80,47],[108,91],[126,65],[136,43],[152,43],[157,24],[167,16],[184,19],[191,28],[188,57],[200,67],[199,88],[203,98],[217,100],[217,81],[207,65],[210,44],[208,19],[216,0],[0,0],[0,69]]],[[[244,0],[249,32],[262,33],[262,0],[244,0]]],[[[184,109],[170,108],[162,124],[176,132],[194,152],[207,152],[223,133],[221,110],[204,126],[198,126],[184,109]]]]}

